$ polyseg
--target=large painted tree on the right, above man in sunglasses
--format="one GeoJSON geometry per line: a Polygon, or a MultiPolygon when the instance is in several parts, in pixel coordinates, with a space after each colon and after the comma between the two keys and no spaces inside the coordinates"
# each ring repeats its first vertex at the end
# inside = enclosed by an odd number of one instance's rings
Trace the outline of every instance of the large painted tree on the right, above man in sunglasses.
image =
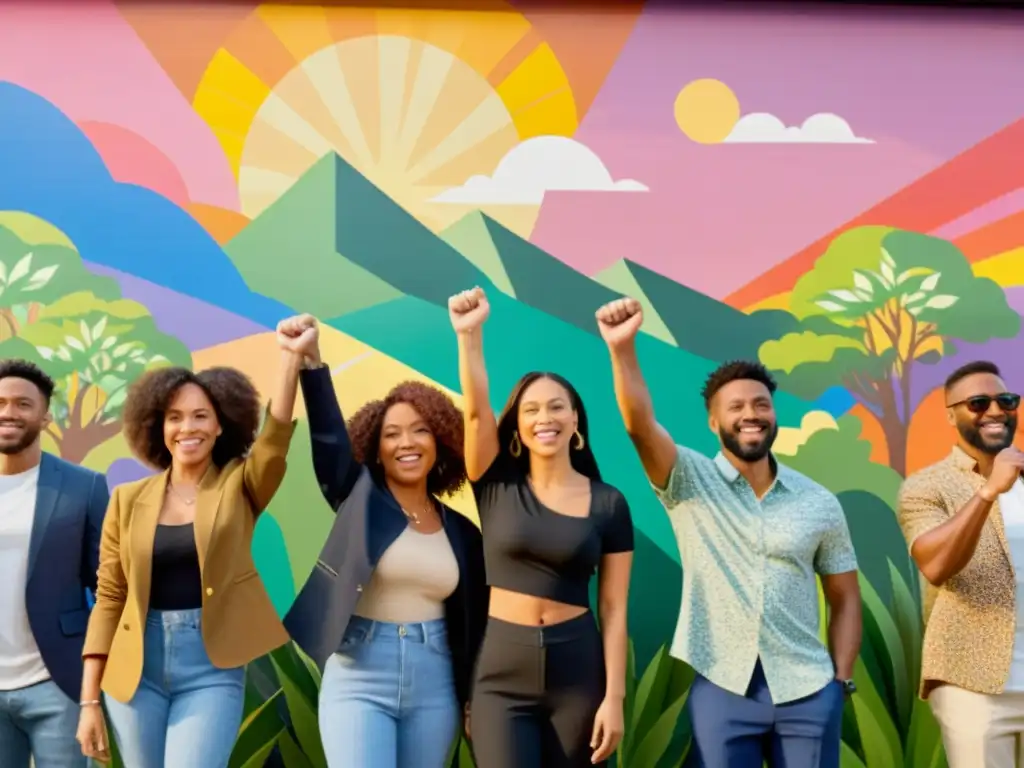
{"type": "Polygon", "coordinates": [[[993,281],[977,278],[951,243],[864,226],[844,232],[798,281],[799,331],[765,342],[761,361],[795,394],[843,386],[879,420],[889,464],[906,473],[906,442],[920,366],[954,341],[1013,338],[1021,317],[993,281]]]}

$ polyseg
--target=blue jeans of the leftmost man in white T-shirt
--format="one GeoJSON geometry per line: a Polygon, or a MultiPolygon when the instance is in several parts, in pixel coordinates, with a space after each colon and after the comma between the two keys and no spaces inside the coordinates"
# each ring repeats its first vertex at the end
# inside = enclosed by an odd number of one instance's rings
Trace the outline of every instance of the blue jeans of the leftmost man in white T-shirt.
{"type": "Polygon", "coordinates": [[[27,688],[0,691],[0,766],[84,768],[82,748],[75,740],[78,701],[72,701],[52,680],[27,688]]]}

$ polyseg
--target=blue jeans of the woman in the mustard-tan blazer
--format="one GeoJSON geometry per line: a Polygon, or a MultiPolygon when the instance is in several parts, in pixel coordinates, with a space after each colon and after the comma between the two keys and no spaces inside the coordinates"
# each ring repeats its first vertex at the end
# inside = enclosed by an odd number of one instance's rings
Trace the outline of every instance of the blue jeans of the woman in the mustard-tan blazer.
{"type": "Polygon", "coordinates": [[[104,696],[114,738],[131,768],[224,768],[242,724],[245,669],[206,654],[202,611],[151,610],[142,680],[128,703],[104,696]]]}

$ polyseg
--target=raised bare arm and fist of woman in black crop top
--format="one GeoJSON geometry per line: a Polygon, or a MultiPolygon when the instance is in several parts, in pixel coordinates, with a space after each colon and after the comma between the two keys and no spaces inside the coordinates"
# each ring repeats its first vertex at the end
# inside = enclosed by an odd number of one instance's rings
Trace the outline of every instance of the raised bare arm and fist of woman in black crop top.
{"type": "Polygon", "coordinates": [[[465,424],[464,454],[470,482],[483,476],[499,453],[498,422],[490,408],[487,369],[483,361],[483,322],[490,305],[474,288],[449,299],[449,315],[459,340],[459,385],[465,424]]]}

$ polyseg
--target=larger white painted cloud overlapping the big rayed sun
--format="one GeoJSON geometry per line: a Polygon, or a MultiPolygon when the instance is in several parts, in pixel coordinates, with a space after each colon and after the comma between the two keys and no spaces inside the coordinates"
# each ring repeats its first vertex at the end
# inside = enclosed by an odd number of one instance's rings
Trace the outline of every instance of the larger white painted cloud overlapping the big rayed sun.
{"type": "Polygon", "coordinates": [[[471,176],[431,203],[540,205],[546,191],[647,191],[633,179],[614,181],[589,147],[565,136],[535,136],[502,158],[490,176],[471,176]]]}

